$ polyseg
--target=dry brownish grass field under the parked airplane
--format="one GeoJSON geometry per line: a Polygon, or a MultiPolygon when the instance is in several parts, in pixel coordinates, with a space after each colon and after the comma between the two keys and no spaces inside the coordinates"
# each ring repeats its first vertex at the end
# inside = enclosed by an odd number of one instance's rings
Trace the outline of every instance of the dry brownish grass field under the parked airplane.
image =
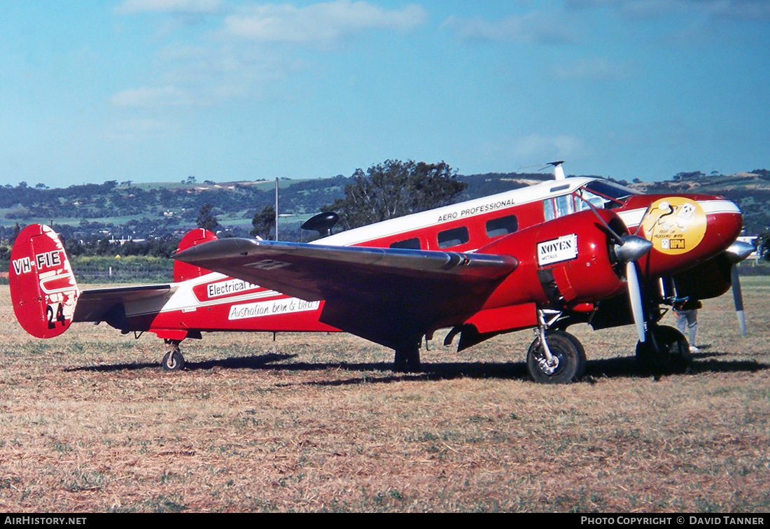
{"type": "Polygon", "coordinates": [[[691,373],[640,377],[630,327],[574,328],[587,380],[545,387],[530,333],[437,337],[404,376],[353,336],[212,334],[167,374],[152,335],[26,336],[4,286],[0,509],[768,511],[768,293],[745,280],[748,339],[705,303],[691,373]]]}

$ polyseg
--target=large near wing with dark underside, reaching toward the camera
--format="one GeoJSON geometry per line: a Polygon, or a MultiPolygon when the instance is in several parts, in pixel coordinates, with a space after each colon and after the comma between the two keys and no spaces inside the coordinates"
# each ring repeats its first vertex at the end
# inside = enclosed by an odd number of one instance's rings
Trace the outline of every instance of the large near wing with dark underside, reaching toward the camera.
{"type": "Polygon", "coordinates": [[[303,300],[325,300],[321,321],[396,347],[405,326],[474,313],[517,266],[506,255],[219,239],[182,262],[303,300]]]}

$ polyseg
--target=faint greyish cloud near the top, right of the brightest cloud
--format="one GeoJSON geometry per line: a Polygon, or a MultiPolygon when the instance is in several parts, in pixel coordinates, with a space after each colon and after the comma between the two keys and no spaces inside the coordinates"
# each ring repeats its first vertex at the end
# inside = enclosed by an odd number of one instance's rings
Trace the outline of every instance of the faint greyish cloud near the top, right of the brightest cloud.
{"type": "Polygon", "coordinates": [[[487,21],[480,17],[450,17],[442,27],[450,29],[459,39],[479,41],[512,41],[537,44],[564,44],[575,37],[556,14],[531,12],[487,21]]]}

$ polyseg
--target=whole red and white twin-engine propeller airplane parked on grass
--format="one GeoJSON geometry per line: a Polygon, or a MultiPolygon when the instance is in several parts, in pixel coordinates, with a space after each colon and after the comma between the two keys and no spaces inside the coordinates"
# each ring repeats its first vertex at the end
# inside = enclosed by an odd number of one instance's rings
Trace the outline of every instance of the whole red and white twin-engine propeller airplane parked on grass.
{"type": "MultiPolygon", "coordinates": [[[[193,229],[179,243],[173,283],[80,290],[59,237],[22,229],[9,273],[15,315],[41,338],[72,322],[149,331],[179,370],[179,344],[215,331],[346,331],[396,351],[397,370],[420,369],[423,336],[451,329],[458,350],[537,329],[527,351],[534,380],[581,377],[585,352],[566,332],[634,323],[637,357],[651,370],[688,363],[685,337],[658,325],[675,298],[703,300],[733,286],[738,206],[721,196],[644,195],[604,179],[556,179],[336,233],[313,243],[216,239],[193,229]]],[[[318,228],[333,214],[305,226],[318,228]]],[[[743,323],[745,329],[745,323],[743,323]]]]}

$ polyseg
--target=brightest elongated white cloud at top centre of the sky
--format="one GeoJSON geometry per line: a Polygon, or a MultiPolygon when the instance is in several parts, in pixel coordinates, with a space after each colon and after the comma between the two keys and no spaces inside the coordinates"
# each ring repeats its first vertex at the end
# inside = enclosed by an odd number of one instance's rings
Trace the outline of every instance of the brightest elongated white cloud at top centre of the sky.
{"type": "Polygon", "coordinates": [[[226,32],[259,42],[332,44],[367,29],[406,32],[423,24],[427,13],[418,5],[387,10],[367,2],[336,0],[296,8],[259,5],[225,18],[226,32]]]}

